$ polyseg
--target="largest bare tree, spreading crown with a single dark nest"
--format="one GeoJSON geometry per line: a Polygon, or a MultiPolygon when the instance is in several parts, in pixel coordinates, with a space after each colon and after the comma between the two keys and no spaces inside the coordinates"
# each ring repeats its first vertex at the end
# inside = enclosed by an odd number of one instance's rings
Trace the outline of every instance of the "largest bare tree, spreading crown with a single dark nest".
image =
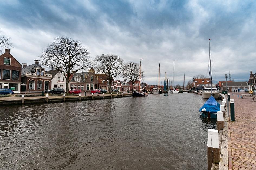
{"type": "Polygon", "coordinates": [[[69,92],[69,78],[79,70],[91,66],[88,49],[82,43],[68,37],[57,37],[46,49],[42,49],[41,63],[60,71],[66,78],[66,93],[69,92]]]}

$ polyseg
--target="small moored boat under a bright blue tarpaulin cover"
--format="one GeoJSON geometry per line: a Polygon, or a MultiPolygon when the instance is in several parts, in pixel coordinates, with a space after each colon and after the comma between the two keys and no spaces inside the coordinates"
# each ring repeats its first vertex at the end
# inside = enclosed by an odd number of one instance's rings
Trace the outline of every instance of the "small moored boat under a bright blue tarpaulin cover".
{"type": "Polygon", "coordinates": [[[220,111],[220,104],[211,96],[204,105],[199,109],[200,114],[203,117],[217,118],[217,112],[220,111]]]}

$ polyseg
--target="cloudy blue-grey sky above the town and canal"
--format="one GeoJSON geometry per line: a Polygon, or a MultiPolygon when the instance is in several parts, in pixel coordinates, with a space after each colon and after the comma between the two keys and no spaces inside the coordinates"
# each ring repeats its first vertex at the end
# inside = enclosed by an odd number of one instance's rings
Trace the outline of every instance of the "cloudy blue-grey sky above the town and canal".
{"type": "MultiPolygon", "coordinates": [[[[58,36],[81,41],[91,60],[116,54],[140,62],[144,82],[173,79],[183,85],[197,74],[209,77],[209,39],[214,81],[248,81],[256,72],[256,1],[18,1],[0,0],[1,34],[10,53],[33,64],[58,36]],[[175,64],[173,64],[175,63],[175,64]],[[229,78],[229,77],[228,77],[229,78]]],[[[117,77],[123,80],[123,78],[117,77]]]]}

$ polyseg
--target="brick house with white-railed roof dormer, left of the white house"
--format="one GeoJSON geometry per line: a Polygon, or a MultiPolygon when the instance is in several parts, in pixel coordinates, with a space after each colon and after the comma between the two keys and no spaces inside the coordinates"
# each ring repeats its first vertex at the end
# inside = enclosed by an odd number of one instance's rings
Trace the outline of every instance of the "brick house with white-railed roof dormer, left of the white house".
{"type": "Polygon", "coordinates": [[[40,60],[34,60],[35,64],[27,66],[22,63],[21,92],[41,93],[51,88],[52,75],[39,65],[40,60]]]}

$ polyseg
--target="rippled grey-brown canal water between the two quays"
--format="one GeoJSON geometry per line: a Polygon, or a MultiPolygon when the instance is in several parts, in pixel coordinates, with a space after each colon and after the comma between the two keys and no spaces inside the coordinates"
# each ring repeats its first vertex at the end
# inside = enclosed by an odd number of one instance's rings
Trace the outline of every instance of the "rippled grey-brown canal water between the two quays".
{"type": "Polygon", "coordinates": [[[192,93],[0,107],[0,169],[207,169],[192,93]]]}

